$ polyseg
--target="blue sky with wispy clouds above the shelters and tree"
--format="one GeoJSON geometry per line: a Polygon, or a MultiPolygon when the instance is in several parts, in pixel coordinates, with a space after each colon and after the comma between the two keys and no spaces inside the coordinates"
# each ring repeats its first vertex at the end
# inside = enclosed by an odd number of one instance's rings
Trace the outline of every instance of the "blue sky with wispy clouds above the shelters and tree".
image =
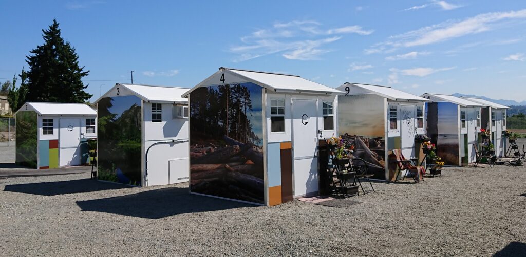
{"type": "Polygon", "coordinates": [[[2,1],[0,81],[56,18],[91,70],[116,82],[193,87],[221,66],[298,74],[329,87],[526,100],[524,1],[2,1]]]}

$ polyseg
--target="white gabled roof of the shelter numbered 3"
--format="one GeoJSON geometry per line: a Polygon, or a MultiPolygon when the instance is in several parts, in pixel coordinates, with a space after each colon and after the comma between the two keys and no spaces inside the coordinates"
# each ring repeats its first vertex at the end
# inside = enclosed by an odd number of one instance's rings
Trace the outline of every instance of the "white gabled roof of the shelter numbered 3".
{"type": "MultiPolygon", "coordinates": [[[[108,92],[113,91],[116,87],[124,87],[146,102],[188,103],[188,99],[181,97],[181,95],[189,90],[188,88],[116,83],[108,92]]],[[[106,97],[106,94],[97,99],[95,103],[106,97]]]]}

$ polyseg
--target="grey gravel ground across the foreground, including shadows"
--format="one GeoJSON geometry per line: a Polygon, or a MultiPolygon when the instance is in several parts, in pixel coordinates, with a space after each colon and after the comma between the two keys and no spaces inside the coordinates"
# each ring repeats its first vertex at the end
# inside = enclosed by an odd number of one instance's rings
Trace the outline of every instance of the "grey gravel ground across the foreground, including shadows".
{"type": "Polygon", "coordinates": [[[346,208],[254,207],[189,195],[186,184],[126,187],[89,174],[0,178],[0,255],[526,253],[526,167],[443,173],[375,183],[346,208]]]}

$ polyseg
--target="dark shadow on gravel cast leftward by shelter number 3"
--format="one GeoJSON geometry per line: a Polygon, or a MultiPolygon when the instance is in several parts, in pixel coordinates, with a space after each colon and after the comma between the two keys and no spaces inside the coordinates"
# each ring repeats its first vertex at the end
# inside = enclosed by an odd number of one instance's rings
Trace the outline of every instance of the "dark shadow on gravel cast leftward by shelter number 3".
{"type": "Polygon", "coordinates": [[[94,179],[86,178],[67,181],[6,185],[4,191],[21,192],[25,194],[41,196],[56,196],[122,188],[129,188],[129,186],[122,184],[104,183],[94,179]]]}

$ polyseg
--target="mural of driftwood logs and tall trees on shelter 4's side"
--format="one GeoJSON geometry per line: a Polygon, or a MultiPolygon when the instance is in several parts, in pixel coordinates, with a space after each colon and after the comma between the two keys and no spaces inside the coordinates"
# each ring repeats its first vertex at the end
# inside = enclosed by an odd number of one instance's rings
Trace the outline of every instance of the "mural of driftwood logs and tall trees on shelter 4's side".
{"type": "Polygon", "coordinates": [[[190,191],[264,204],[262,88],[190,93],[190,191]]]}

